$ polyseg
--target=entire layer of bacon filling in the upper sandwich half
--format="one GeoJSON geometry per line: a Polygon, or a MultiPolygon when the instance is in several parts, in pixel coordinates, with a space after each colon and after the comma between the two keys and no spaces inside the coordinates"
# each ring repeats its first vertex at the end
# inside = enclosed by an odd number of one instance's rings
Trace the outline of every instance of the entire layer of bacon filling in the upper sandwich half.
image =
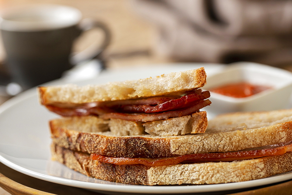
{"type": "Polygon", "coordinates": [[[182,97],[159,96],[136,100],[117,100],[109,102],[92,102],[77,107],[46,106],[50,111],[61,116],[98,115],[103,119],[124,119],[129,121],[157,121],[171,117],[192,114],[210,105],[209,91],[194,90],[182,97]]]}

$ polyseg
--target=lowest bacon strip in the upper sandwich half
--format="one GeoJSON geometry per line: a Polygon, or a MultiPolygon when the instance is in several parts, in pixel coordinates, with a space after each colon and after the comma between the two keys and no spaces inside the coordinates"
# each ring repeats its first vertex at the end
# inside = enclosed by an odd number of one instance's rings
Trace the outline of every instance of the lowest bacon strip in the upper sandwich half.
{"type": "MultiPolygon", "coordinates": [[[[197,103],[197,102],[196,102],[197,103]]],[[[168,119],[173,117],[181,117],[185,115],[190,115],[194,112],[197,112],[199,109],[204,108],[211,104],[210,100],[199,100],[197,104],[194,104],[192,107],[188,107],[181,110],[168,111],[163,113],[142,113],[142,114],[129,114],[129,113],[118,113],[111,112],[107,114],[103,114],[100,116],[102,119],[123,119],[127,121],[159,121],[162,119],[168,119]]]]}

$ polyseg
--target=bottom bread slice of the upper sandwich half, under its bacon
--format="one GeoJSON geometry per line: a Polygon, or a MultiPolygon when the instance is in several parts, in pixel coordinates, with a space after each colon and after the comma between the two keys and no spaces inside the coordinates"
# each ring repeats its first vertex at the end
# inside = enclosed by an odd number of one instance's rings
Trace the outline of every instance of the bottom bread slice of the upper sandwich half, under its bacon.
{"type": "Polygon", "coordinates": [[[206,111],[193,113],[192,116],[181,116],[154,122],[135,122],[122,119],[103,120],[96,116],[72,116],[55,119],[58,126],[80,132],[106,132],[105,135],[145,135],[145,131],[155,136],[185,135],[204,133],[208,121],[206,111]],[[109,131],[109,132],[108,132],[109,131]]]}

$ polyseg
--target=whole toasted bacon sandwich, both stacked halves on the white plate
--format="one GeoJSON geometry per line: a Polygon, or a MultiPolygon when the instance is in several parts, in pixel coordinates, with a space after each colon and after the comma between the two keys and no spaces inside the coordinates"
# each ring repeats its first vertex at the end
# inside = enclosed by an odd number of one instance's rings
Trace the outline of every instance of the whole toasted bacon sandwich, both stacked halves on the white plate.
{"type": "Polygon", "coordinates": [[[85,175],[137,185],[215,184],[292,170],[292,110],[207,122],[203,68],[99,86],[39,87],[52,159],[85,175]],[[155,111],[155,112],[154,112],[155,111]],[[208,127],[207,127],[208,123],[208,127]]]}

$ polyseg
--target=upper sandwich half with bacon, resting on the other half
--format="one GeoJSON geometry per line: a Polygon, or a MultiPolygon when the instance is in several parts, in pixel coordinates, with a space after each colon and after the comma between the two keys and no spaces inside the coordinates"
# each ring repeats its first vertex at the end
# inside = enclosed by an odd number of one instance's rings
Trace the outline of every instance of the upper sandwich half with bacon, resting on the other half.
{"type": "MultiPolygon", "coordinates": [[[[210,105],[204,68],[103,85],[39,87],[40,102],[61,116],[94,116],[114,135],[204,133],[210,105]],[[179,128],[177,128],[178,126],[179,128]]],[[[98,120],[98,121],[97,121],[98,120]]]]}

